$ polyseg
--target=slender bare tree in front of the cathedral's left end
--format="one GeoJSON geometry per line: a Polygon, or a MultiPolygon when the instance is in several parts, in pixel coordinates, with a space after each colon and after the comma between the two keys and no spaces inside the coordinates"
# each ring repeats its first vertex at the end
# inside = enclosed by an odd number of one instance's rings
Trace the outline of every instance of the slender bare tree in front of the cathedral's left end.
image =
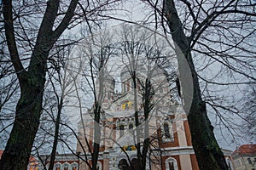
{"type": "MultiPolygon", "coordinates": [[[[104,32],[104,31],[102,31],[104,32]]],[[[91,160],[89,161],[85,157],[84,161],[87,167],[90,169],[96,169],[98,167],[98,157],[99,152],[102,150],[102,102],[107,98],[106,93],[108,91],[108,71],[106,66],[108,64],[108,59],[110,58],[112,48],[108,45],[111,42],[111,37],[108,36],[108,32],[103,33],[95,32],[95,34],[90,34],[90,37],[79,44],[79,55],[81,59],[85,59],[83,79],[84,86],[78,84],[78,87],[84,89],[84,95],[90,96],[89,105],[84,107],[89,107],[86,113],[80,111],[80,128],[79,128],[79,138],[78,138],[78,150],[82,151],[84,156],[90,155],[91,160]],[[85,116],[84,116],[85,115],[85,116]],[[88,117],[89,116],[89,117],[88,117]],[[90,136],[91,127],[88,127],[89,120],[93,122],[93,135],[90,136]]],[[[80,97],[81,100],[85,99],[80,97]]],[[[81,107],[81,105],[79,106],[81,107]]]]}

